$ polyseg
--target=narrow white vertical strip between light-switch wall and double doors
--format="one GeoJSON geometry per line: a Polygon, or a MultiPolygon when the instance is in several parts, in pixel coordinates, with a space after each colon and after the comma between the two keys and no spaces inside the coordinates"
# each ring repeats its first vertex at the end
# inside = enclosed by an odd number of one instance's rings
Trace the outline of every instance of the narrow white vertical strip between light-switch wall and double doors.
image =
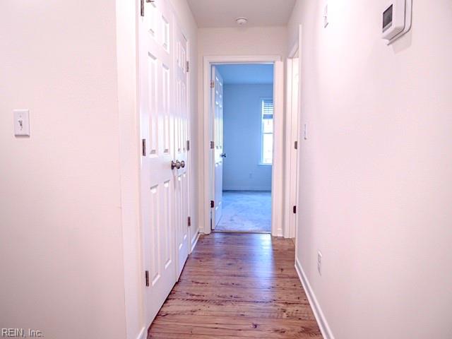
{"type": "Polygon", "coordinates": [[[121,174],[121,224],[124,256],[126,338],[136,339],[143,323],[143,266],[140,232],[140,133],[138,65],[136,63],[136,1],[116,0],[119,163],[121,174]]]}

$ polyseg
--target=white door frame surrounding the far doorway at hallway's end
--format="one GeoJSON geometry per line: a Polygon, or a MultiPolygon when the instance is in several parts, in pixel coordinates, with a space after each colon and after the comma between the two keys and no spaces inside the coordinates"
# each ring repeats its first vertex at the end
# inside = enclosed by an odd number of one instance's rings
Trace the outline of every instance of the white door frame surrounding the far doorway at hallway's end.
{"type": "Polygon", "coordinates": [[[210,67],[212,64],[274,64],[273,102],[273,166],[272,166],[272,213],[271,234],[283,237],[283,174],[284,174],[284,64],[278,55],[268,56],[206,56],[203,59],[203,117],[201,131],[203,140],[203,176],[201,177],[202,232],[210,234],[210,200],[213,174],[211,168],[210,141],[213,140],[212,114],[210,112],[210,67]]]}

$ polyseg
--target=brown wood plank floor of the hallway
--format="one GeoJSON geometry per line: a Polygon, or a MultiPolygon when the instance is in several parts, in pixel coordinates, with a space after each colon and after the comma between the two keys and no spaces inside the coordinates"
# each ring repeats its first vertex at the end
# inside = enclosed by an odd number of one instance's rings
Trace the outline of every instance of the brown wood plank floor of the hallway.
{"type": "Polygon", "coordinates": [[[294,258],[270,234],[201,237],[148,338],[322,338],[294,258]]]}

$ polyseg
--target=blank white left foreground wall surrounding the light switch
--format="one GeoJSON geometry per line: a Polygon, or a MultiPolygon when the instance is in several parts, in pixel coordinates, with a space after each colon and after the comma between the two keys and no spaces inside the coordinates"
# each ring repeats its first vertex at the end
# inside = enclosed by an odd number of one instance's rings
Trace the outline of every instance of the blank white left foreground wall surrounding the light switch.
{"type": "Polygon", "coordinates": [[[0,4],[0,327],[126,335],[114,2],[0,4]],[[30,109],[31,137],[13,136],[30,109]]]}

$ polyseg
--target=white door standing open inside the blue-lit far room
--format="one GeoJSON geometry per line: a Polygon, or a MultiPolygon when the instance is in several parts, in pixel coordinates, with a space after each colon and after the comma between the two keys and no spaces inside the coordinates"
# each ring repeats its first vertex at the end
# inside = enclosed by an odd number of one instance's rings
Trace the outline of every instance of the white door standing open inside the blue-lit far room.
{"type": "Polygon", "coordinates": [[[212,227],[218,225],[222,216],[223,203],[223,79],[215,66],[212,66],[212,109],[214,112],[214,215],[212,227]]]}

